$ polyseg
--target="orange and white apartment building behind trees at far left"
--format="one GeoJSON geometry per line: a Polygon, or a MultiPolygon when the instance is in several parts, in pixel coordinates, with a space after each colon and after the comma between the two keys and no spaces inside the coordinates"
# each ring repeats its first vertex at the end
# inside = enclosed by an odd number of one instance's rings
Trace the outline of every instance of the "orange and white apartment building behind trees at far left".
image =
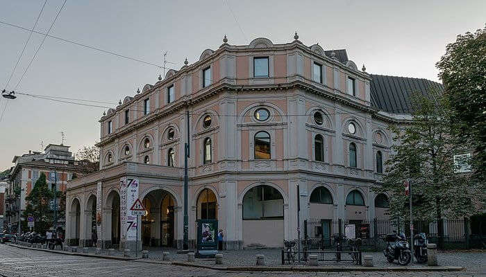
{"type": "MultiPolygon", "coordinates": [[[[76,161],[69,146],[49,144],[42,152],[29,151],[28,154],[15,156],[12,160],[15,163],[10,170],[10,189],[8,190],[9,222],[12,232],[20,231],[19,220],[22,220],[22,213],[26,208],[26,197],[31,193],[35,181],[42,173],[46,175],[49,188],[56,183],[56,190],[66,190],[67,181],[73,175],[81,177],[97,170],[96,164],[90,161],[76,161]],[[56,172],[56,178],[53,173],[56,172]],[[51,174],[52,173],[52,174],[51,174]]],[[[59,203],[59,202],[58,202],[59,203]]],[[[25,218],[23,220],[26,220],[25,218]]],[[[58,222],[60,228],[64,228],[63,218],[58,222]]]]}

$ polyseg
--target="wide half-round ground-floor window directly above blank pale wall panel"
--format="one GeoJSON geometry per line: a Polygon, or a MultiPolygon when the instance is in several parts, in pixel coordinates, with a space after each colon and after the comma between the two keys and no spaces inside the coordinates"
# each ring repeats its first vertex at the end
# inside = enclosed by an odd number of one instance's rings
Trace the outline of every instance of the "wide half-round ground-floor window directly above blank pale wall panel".
{"type": "Polygon", "coordinates": [[[255,186],[243,197],[243,220],[267,219],[283,219],[283,196],[272,186],[255,186]]]}

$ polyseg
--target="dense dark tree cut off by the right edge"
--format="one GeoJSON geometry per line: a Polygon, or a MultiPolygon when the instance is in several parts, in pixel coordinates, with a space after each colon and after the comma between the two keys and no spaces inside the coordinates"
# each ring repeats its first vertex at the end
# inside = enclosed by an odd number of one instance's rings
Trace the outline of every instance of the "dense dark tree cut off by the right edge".
{"type": "MultiPolygon", "coordinates": [[[[477,181],[486,179],[486,28],[458,35],[437,62],[457,136],[474,150],[477,181]]],[[[469,150],[468,152],[471,152],[469,150]]]]}

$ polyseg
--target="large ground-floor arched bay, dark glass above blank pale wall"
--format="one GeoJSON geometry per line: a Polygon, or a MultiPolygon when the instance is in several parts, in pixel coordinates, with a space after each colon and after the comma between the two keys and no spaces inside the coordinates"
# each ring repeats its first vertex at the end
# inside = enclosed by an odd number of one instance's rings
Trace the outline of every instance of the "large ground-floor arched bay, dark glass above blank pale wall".
{"type": "Polygon", "coordinates": [[[283,195],[272,186],[255,186],[245,193],[242,207],[244,246],[282,246],[283,203],[283,195]]]}

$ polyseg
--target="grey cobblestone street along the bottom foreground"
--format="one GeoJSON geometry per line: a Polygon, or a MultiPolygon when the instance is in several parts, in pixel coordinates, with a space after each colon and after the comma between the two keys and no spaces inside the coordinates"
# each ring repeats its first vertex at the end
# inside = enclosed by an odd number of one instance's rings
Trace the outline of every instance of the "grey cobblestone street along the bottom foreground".
{"type": "MultiPolygon", "coordinates": [[[[252,254],[242,252],[243,255],[252,254]]],[[[458,257],[458,262],[464,263],[462,266],[467,270],[457,272],[228,272],[137,261],[67,256],[1,244],[0,276],[486,276],[485,253],[446,254],[458,257]]],[[[206,261],[208,265],[213,263],[206,261]]]]}

